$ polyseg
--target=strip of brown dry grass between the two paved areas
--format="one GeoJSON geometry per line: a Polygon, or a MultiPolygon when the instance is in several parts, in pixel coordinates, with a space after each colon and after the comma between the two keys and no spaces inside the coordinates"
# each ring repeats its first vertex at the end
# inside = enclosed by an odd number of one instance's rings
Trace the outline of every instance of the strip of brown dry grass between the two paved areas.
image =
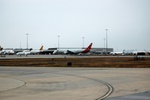
{"type": "Polygon", "coordinates": [[[0,59],[0,66],[150,68],[150,58],[22,58],[0,59]]]}

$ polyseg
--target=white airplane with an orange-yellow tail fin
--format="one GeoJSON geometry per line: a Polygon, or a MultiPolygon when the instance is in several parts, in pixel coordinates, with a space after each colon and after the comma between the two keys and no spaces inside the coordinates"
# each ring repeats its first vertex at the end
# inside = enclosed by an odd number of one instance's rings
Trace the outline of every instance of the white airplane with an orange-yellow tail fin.
{"type": "Polygon", "coordinates": [[[29,50],[24,50],[24,51],[18,52],[18,53],[16,53],[16,54],[17,54],[17,56],[21,56],[21,55],[28,56],[28,55],[30,55],[30,54],[38,54],[38,53],[40,53],[42,50],[43,50],[43,46],[41,46],[41,48],[40,48],[39,50],[31,50],[31,51],[29,51],[29,50]]]}

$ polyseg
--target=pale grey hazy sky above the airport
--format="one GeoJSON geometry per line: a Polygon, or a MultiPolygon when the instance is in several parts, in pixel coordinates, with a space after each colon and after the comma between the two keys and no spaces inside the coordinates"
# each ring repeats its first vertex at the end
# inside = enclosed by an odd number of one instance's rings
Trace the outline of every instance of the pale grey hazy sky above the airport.
{"type": "Polygon", "coordinates": [[[0,0],[0,46],[150,50],[150,0],[0,0]]]}

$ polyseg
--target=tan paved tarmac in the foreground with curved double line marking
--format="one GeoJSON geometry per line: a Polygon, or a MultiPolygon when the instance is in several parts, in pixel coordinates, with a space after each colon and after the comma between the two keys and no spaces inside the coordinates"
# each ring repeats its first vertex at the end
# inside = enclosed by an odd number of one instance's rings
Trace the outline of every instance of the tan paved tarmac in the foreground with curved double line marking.
{"type": "Polygon", "coordinates": [[[150,100],[149,68],[0,66],[0,100],[150,100]]]}

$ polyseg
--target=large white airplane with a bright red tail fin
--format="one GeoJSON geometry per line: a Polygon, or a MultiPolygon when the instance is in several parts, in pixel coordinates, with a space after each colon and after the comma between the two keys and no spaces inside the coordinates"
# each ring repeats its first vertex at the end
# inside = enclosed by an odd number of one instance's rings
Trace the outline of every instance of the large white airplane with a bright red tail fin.
{"type": "Polygon", "coordinates": [[[53,54],[58,54],[58,53],[60,54],[85,54],[91,50],[92,44],[93,43],[91,43],[85,49],[57,49],[57,50],[54,50],[53,54]]]}

